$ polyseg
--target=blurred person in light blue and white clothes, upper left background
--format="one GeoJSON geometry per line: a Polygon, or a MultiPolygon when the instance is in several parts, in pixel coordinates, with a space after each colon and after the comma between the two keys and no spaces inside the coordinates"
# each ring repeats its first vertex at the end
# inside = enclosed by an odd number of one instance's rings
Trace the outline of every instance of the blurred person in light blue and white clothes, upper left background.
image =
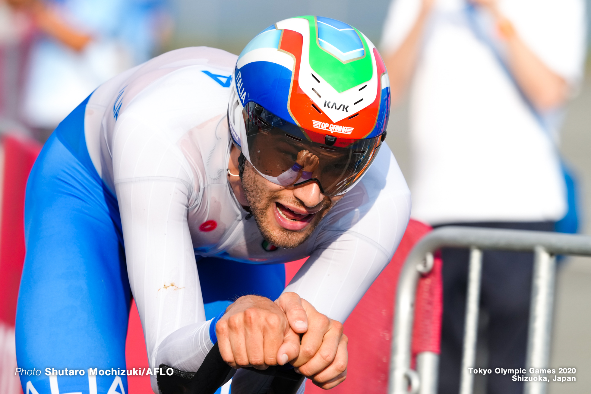
{"type": "Polygon", "coordinates": [[[167,0],[10,0],[40,34],[21,114],[44,141],[101,83],[154,55],[171,31],[167,0]]]}

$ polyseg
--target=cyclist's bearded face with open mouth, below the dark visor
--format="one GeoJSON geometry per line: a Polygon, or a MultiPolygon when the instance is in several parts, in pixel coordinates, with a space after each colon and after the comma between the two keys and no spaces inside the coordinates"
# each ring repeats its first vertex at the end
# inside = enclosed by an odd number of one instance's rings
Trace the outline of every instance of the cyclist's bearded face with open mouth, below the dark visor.
{"type": "Polygon", "coordinates": [[[242,187],[262,236],[279,248],[300,246],[342,196],[320,194],[316,183],[282,187],[261,177],[246,161],[242,187]]]}

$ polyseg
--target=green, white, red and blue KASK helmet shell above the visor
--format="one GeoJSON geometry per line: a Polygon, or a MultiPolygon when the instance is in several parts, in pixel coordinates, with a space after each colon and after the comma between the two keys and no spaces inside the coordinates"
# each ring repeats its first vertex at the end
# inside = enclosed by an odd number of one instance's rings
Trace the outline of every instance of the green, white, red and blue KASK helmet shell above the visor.
{"type": "Polygon", "coordinates": [[[330,136],[335,146],[352,146],[386,131],[388,74],[375,45],[349,24],[288,18],[246,45],[232,75],[230,133],[250,162],[243,110],[251,102],[298,126],[311,142],[330,136]]]}

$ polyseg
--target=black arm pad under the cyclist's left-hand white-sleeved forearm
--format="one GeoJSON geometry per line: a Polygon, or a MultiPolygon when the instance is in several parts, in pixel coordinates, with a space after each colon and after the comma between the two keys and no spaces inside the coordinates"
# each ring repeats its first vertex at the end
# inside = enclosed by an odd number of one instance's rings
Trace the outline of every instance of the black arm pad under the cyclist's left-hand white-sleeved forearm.
{"type": "MultiPolygon", "coordinates": [[[[160,367],[163,371],[170,368],[164,364],[160,367]]],[[[214,394],[225,382],[230,370],[232,367],[222,359],[216,343],[196,373],[174,370],[171,376],[158,375],[158,388],[163,394],[214,394]]]]}

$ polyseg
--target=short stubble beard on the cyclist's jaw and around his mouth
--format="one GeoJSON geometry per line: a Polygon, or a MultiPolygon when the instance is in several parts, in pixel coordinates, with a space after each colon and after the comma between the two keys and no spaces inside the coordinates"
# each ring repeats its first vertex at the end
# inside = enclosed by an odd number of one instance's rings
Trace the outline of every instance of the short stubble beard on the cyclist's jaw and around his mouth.
{"type": "Polygon", "coordinates": [[[269,219],[268,211],[270,209],[277,209],[275,206],[276,200],[283,200],[285,203],[289,203],[294,207],[304,207],[304,205],[295,197],[289,198],[288,200],[285,200],[285,198],[280,199],[280,193],[278,192],[269,192],[265,196],[265,182],[268,181],[261,177],[248,161],[245,161],[244,170],[240,172],[240,178],[244,196],[246,201],[248,201],[256,226],[258,226],[262,237],[278,248],[293,249],[304,243],[312,235],[320,220],[326,216],[333,206],[333,203],[328,198],[324,198],[322,201],[322,210],[316,213],[314,219],[303,230],[296,232],[284,229],[279,225],[273,226],[272,223],[269,223],[272,219],[269,219]]]}

